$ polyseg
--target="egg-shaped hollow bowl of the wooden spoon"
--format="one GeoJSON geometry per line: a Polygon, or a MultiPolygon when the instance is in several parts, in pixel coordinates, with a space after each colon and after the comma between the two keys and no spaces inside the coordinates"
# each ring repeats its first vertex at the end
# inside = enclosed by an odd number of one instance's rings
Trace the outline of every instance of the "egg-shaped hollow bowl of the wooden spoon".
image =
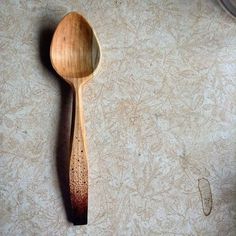
{"type": "Polygon", "coordinates": [[[69,81],[94,73],[100,59],[100,47],[83,16],[71,12],[62,19],[53,35],[50,58],[56,72],[69,81]]]}

